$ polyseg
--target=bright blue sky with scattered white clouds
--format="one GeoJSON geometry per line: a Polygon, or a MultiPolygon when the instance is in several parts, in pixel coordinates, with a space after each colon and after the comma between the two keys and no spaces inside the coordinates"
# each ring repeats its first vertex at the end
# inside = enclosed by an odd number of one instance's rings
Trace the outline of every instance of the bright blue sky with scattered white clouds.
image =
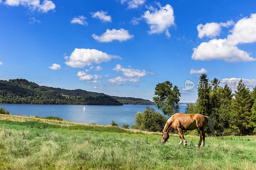
{"type": "Polygon", "coordinates": [[[253,0],[0,0],[4,80],[148,100],[169,80],[195,102],[202,73],[252,89],[255,47],[253,0]]]}

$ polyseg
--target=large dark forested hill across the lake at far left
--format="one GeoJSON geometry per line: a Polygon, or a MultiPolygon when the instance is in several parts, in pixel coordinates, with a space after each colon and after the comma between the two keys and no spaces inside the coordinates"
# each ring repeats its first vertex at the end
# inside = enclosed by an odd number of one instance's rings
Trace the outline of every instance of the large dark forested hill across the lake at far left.
{"type": "Polygon", "coordinates": [[[122,105],[103,93],[40,86],[26,79],[0,80],[0,103],[122,105]],[[61,91],[65,93],[60,93],[61,91]]]}

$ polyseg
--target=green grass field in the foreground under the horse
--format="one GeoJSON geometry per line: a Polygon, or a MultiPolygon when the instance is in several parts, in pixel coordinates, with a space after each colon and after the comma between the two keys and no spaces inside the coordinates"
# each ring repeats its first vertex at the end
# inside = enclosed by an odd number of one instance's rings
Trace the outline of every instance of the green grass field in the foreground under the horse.
{"type": "Polygon", "coordinates": [[[177,135],[0,115],[0,169],[256,169],[256,137],[177,135]]]}

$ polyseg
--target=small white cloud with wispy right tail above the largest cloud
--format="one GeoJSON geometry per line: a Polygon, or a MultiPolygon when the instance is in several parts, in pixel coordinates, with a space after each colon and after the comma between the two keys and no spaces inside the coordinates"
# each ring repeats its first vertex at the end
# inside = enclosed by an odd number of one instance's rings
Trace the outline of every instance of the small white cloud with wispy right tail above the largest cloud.
{"type": "Polygon", "coordinates": [[[203,24],[199,24],[196,28],[198,31],[198,37],[199,38],[203,38],[204,36],[207,37],[216,37],[218,35],[220,35],[220,31],[221,31],[221,27],[229,27],[234,25],[235,23],[233,22],[233,20],[227,21],[225,23],[220,22],[220,23],[216,23],[216,22],[212,22],[212,23],[206,23],[205,25],[203,24]]]}

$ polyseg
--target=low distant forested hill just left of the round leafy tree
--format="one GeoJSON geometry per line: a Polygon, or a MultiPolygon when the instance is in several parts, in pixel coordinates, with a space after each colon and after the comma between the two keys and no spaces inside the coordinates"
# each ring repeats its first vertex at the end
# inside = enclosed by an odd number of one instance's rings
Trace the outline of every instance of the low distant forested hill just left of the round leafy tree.
{"type": "Polygon", "coordinates": [[[150,100],[134,98],[134,97],[118,97],[111,96],[113,99],[118,100],[122,104],[132,104],[132,105],[154,105],[155,103],[150,100]]]}

